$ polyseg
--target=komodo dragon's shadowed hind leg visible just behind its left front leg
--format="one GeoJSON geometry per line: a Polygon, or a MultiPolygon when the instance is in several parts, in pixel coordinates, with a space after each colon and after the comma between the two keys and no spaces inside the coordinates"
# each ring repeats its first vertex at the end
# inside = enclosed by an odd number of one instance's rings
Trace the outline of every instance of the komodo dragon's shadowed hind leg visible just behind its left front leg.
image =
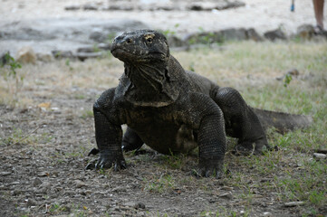
{"type": "Polygon", "coordinates": [[[124,137],[122,137],[121,148],[123,151],[133,151],[139,149],[143,146],[143,141],[139,135],[132,130],[130,127],[127,127],[124,137]]]}

